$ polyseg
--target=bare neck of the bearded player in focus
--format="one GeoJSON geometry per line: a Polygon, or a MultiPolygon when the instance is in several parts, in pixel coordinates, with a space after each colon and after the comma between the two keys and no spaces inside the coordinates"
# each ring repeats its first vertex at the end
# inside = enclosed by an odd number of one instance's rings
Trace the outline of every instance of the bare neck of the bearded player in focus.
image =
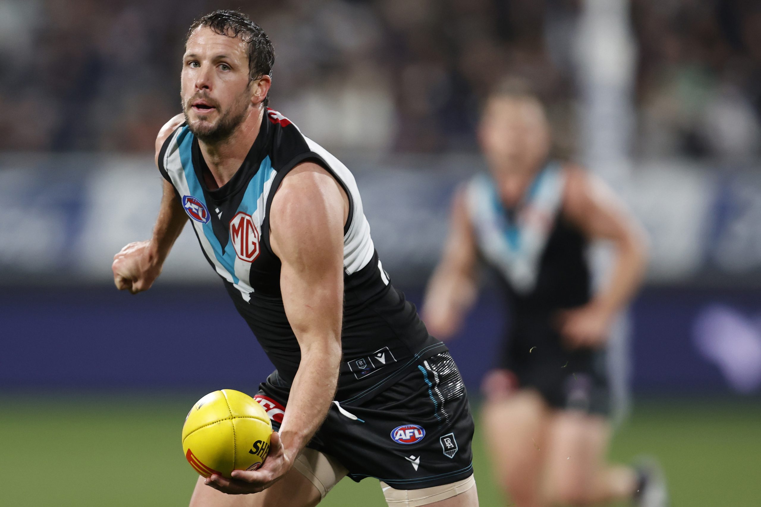
{"type": "Polygon", "coordinates": [[[216,143],[199,140],[199,147],[209,172],[221,187],[240,169],[241,164],[256,141],[262,126],[264,108],[252,108],[246,119],[238,125],[230,137],[216,143]]]}

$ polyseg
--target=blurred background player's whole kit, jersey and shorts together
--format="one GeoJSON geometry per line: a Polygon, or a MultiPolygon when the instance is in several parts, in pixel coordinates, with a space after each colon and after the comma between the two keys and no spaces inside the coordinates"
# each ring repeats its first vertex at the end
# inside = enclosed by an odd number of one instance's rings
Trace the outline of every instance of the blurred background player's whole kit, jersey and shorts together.
{"type": "Polygon", "coordinates": [[[540,392],[560,410],[608,414],[607,352],[568,347],[559,311],[591,299],[588,240],[563,214],[567,171],[551,161],[515,208],[505,208],[492,178],[466,188],[466,205],[481,258],[498,274],[511,319],[498,366],[515,384],[540,392]]]}

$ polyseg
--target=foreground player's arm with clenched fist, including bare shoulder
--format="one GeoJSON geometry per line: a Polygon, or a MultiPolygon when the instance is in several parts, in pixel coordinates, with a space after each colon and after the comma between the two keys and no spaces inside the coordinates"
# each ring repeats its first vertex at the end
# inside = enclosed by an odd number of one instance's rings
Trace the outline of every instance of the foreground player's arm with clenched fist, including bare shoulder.
{"type": "MultiPolygon", "coordinates": [[[[164,141],[182,122],[183,116],[177,115],[170,119],[158,133],[156,157],[154,159],[157,164],[164,141]]],[[[177,240],[177,236],[180,236],[183,227],[185,227],[186,221],[187,215],[183,211],[180,201],[177,200],[174,187],[170,182],[164,181],[161,206],[151,239],[129,243],[113,256],[111,269],[116,288],[129,290],[133,294],[148,290],[161,273],[164,261],[177,240]]]]}

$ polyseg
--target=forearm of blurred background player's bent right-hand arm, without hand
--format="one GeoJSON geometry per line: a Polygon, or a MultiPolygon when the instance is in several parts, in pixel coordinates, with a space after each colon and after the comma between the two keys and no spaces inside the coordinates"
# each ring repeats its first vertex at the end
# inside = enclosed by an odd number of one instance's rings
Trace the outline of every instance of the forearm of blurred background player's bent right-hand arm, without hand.
{"type": "Polygon", "coordinates": [[[634,297],[645,274],[645,240],[627,236],[616,245],[616,261],[610,282],[594,298],[593,304],[606,312],[618,312],[634,297]]]}

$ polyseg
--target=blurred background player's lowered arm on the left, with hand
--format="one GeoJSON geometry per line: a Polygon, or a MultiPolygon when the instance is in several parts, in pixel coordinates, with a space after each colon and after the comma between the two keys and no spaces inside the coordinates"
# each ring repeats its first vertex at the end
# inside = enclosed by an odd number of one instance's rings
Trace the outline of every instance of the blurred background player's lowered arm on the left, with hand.
{"type": "Polygon", "coordinates": [[[428,282],[423,319],[436,337],[457,332],[463,317],[476,299],[476,244],[467,216],[465,192],[457,191],[452,200],[449,236],[444,255],[428,282]]]}

